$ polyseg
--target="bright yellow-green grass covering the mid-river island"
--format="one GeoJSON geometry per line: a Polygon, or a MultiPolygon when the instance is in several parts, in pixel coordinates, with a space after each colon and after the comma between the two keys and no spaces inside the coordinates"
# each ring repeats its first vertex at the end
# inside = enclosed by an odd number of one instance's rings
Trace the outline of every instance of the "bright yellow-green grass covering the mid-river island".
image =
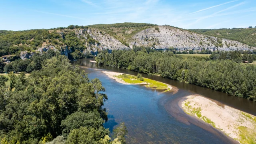
{"type": "Polygon", "coordinates": [[[138,78],[136,76],[132,76],[132,75],[128,75],[128,74],[122,74],[122,75],[118,75],[116,77],[121,78],[122,80],[124,80],[124,82],[127,82],[129,84],[147,83],[147,85],[145,85],[147,88],[154,88],[157,90],[165,90],[165,91],[170,90],[170,88],[168,88],[167,84],[158,82],[156,80],[150,80],[148,78],[144,78],[144,81],[141,81],[141,80],[138,80],[138,78]]]}

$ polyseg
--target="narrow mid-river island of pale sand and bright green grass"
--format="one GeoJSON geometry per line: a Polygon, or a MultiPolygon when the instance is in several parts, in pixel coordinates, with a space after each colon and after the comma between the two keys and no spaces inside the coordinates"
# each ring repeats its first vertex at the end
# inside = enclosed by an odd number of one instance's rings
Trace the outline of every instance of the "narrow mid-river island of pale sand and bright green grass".
{"type": "Polygon", "coordinates": [[[119,72],[110,72],[110,71],[102,71],[102,72],[106,74],[109,78],[112,78],[122,84],[142,84],[147,88],[163,90],[164,92],[172,90],[172,86],[162,82],[155,81],[155,80],[150,80],[148,78],[144,78],[144,80],[141,81],[141,80],[138,80],[136,76],[133,76],[130,74],[123,74],[119,72]]]}

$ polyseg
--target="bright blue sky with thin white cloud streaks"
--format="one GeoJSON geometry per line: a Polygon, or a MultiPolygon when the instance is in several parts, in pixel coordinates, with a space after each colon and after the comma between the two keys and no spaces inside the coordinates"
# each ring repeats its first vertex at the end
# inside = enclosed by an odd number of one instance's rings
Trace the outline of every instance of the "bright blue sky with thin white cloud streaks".
{"type": "Polygon", "coordinates": [[[180,28],[256,26],[256,0],[0,0],[0,30],[145,22],[180,28]]]}

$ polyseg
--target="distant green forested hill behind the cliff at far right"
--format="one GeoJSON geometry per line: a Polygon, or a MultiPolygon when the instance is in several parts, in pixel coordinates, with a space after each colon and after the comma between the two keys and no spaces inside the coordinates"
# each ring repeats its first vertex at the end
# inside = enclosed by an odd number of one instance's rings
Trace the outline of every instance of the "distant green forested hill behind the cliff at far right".
{"type": "Polygon", "coordinates": [[[256,28],[222,28],[222,29],[192,29],[191,32],[236,40],[256,47],[256,28]]]}

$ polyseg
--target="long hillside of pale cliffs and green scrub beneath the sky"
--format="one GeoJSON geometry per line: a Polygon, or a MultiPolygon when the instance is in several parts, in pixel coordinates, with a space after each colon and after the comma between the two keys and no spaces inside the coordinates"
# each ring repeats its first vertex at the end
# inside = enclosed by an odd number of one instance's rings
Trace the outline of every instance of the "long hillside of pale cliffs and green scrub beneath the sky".
{"type": "MultiPolygon", "coordinates": [[[[252,35],[256,36],[256,35],[252,35]]],[[[240,40],[242,41],[242,40],[240,40]]],[[[253,40],[252,40],[253,41],[253,40]]],[[[129,49],[133,45],[153,48],[178,48],[180,50],[249,50],[254,47],[225,36],[206,36],[172,26],[145,23],[96,24],[90,26],[70,25],[66,28],[24,31],[0,30],[0,56],[34,52],[54,48],[62,54],[104,49],[129,49]]]]}

